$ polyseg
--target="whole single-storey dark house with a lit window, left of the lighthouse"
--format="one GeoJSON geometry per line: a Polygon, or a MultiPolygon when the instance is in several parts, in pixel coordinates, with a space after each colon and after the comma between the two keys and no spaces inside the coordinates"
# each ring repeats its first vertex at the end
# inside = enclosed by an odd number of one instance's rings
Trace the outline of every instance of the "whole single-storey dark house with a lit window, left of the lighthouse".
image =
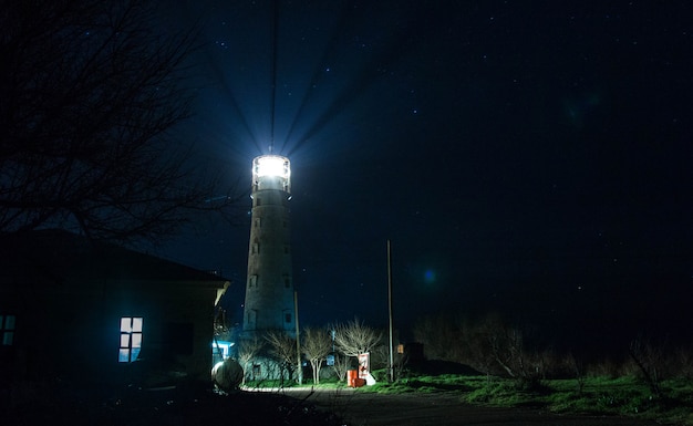
{"type": "Polygon", "coordinates": [[[0,238],[0,382],[209,382],[218,276],[63,230],[0,238]]]}

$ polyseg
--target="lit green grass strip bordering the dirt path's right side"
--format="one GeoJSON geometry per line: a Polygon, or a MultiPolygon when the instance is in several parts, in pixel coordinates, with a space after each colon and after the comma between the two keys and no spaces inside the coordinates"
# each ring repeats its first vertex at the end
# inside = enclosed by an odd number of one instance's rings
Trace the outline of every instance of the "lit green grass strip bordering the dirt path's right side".
{"type": "Polygon", "coordinates": [[[534,407],[554,413],[620,415],[660,423],[693,425],[693,383],[662,382],[661,397],[633,376],[589,377],[580,391],[576,380],[546,380],[532,384],[479,375],[415,375],[395,383],[379,382],[361,392],[452,392],[461,402],[496,407],[534,407]]]}

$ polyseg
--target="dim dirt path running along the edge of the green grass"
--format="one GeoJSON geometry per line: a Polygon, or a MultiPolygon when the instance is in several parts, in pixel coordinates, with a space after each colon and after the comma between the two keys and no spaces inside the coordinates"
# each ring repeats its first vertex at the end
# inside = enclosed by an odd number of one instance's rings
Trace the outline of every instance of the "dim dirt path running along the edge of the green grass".
{"type": "Polygon", "coordinates": [[[435,394],[373,394],[340,391],[287,389],[287,395],[304,399],[319,408],[329,409],[352,426],[604,426],[604,425],[656,425],[625,417],[597,417],[556,415],[526,408],[488,408],[459,403],[449,393],[435,394]]]}

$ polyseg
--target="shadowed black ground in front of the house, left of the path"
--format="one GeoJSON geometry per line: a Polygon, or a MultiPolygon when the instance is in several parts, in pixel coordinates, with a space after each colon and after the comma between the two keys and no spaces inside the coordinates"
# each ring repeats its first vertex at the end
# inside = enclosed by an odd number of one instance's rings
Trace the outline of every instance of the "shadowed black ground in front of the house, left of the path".
{"type": "Polygon", "coordinates": [[[50,396],[38,393],[1,408],[2,425],[343,425],[333,414],[277,392],[220,395],[200,388],[72,389],[50,396]]]}

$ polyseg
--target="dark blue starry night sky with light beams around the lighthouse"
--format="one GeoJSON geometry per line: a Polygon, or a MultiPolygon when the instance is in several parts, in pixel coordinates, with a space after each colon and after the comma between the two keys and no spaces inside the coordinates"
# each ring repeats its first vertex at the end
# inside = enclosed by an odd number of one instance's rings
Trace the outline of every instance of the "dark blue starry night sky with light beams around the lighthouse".
{"type": "MultiPolygon", "coordinates": [[[[585,342],[693,335],[689,1],[179,3],[166,22],[203,44],[184,132],[242,191],[271,143],[276,56],[302,325],[386,325],[390,239],[405,336],[444,310],[585,342]]],[[[238,226],[159,252],[221,270],[238,318],[246,199],[238,226]]]]}

